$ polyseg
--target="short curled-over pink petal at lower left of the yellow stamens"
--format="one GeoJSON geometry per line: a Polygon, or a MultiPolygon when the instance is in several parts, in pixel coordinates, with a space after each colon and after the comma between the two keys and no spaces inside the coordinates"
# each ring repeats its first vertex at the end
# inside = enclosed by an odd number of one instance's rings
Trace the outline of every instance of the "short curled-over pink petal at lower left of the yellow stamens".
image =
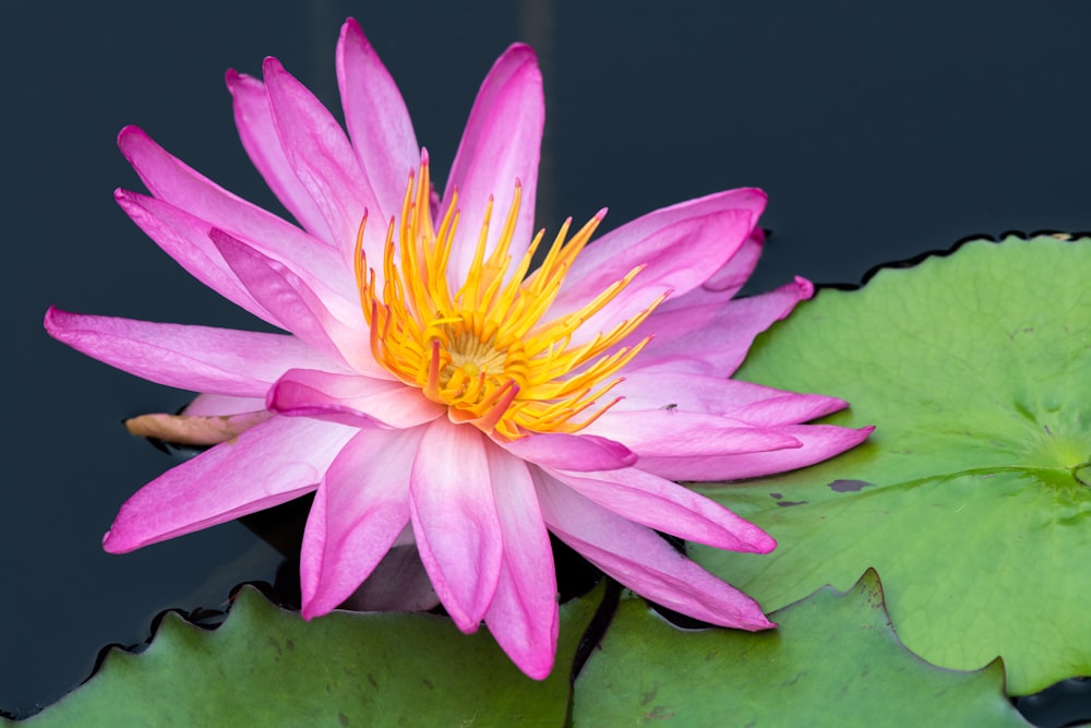
{"type": "MultiPolygon", "coordinates": [[[[313,369],[286,372],[269,390],[267,402],[269,409],[281,414],[348,415],[397,429],[423,425],[446,413],[419,389],[398,380],[313,369]]],[[[348,423],[351,419],[339,421],[348,423]]]]}

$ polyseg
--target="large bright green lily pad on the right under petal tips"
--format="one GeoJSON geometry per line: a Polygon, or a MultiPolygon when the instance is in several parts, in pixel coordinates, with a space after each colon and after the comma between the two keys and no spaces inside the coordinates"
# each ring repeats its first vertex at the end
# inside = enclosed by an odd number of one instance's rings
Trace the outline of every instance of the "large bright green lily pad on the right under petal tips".
{"type": "Polygon", "coordinates": [[[860,290],[823,290],[740,377],[822,392],[877,429],[818,466],[699,487],[770,556],[693,558],[766,609],[873,566],[902,642],[945,667],[997,655],[1012,694],[1091,675],[1091,241],[975,241],[860,290]]]}

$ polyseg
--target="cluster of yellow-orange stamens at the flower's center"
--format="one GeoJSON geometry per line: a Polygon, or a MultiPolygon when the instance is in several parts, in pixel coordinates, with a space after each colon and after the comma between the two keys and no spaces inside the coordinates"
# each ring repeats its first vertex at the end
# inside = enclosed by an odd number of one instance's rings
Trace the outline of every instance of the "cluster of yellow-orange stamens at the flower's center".
{"type": "Polygon", "coordinates": [[[439,228],[430,212],[427,159],[420,179],[410,174],[399,220],[392,220],[383,254],[383,279],[357,236],[356,278],[371,329],[375,360],[425,397],[447,407],[455,422],[470,422],[506,440],[532,432],[576,432],[609,409],[600,402],[620,380],[618,372],[648,338],[619,346],[667,297],[637,315],[573,343],[573,334],[613,300],[639,273],[637,266],[580,309],[546,320],[576,255],[601,215],[565,242],[572,220],[561,227],[542,264],[527,275],[544,231],[513,264],[511,246],[521,196],[518,183],[499,240],[487,256],[492,200],[485,210],[465,281],[452,291],[447,267],[458,226],[455,192],[439,228]],[[381,288],[381,289],[380,289],[381,288]]]}

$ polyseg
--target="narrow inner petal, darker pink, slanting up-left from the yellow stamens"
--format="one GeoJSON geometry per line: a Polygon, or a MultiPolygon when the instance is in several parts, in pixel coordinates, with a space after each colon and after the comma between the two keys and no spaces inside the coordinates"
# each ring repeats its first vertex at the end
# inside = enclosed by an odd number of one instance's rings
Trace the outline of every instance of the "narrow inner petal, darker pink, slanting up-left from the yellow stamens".
{"type": "Polygon", "coordinates": [[[283,263],[263,255],[220,230],[212,231],[224,260],[264,309],[301,339],[336,361],[344,361],[359,372],[379,372],[381,368],[368,350],[363,321],[353,329],[339,321],[298,275],[283,263]]]}

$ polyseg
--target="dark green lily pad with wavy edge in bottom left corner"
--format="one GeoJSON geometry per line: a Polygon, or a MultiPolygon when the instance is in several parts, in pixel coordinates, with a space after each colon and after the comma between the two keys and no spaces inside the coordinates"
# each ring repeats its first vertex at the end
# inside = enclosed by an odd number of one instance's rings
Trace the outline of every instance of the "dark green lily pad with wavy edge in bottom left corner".
{"type": "Polygon", "coordinates": [[[208,632],[177,614],[140,655],[115,651],[35,726],[561,726],[570,666],[602,587],[562,607],[556,667],[524,676],[485,630],[334,612],[310,623],[243,588],[208,632]]]}

